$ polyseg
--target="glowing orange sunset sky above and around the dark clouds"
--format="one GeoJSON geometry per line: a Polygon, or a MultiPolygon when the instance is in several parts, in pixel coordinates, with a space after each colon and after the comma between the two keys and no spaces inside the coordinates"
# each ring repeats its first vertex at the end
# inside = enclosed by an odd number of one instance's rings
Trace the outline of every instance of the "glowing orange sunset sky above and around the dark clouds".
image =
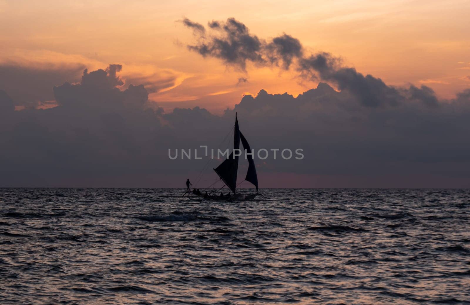
{"type": "Polygon", "coordinates": [[[440,98],[470,87],[468,0],[95,2],[0,0],[0,64],[92,70],[119,63],[128,83],[173,79],[150,94],[166,111],[177,105],[220,113],[244,92],[297,95],[316,86],[281,69],[239,71],[184,46],[195,38],[177,20],[235,17],[259,38],[285,32],[386,84],[425,84],[440,98]],[[237,84],[240,77],[248,82],[237,84]]]}

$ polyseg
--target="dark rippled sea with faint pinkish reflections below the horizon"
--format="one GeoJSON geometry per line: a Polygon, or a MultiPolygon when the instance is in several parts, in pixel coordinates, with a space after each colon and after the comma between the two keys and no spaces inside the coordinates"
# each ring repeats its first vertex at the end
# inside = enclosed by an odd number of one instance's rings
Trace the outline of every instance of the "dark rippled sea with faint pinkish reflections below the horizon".
{"type": "Polygon", "coordinates": [[[470,190],[183,192],[0,189],[0,303],[470,304],[470,190]]]}

